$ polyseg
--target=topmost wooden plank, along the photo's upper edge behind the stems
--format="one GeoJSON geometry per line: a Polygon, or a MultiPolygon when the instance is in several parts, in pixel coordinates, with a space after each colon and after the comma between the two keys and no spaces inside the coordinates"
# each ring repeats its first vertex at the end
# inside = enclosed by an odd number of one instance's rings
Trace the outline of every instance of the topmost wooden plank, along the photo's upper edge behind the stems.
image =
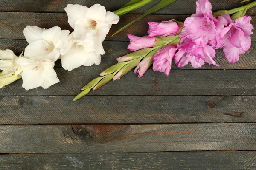
{"type": "MultiPolygon", "coordinates": [[[[177,0],[165,8],[155,11],[153,14],[194,14],[195,2],[197,0],[177,0]]],[[[210,0],[212,3],[212,11],[218,11],[220,9],[232,9],[242,6],[246,3],[240,3],[237,0],[210,0]]],[[[128,0],[111,0],[111,3],[106,0],[1,0],[0,10],[2,11],[48,11],[48,12],[64,12],[64,8],[67,4],[80,4],[87,7],[93,6],[95,3],[99,3],[108,11],[115,11],[121,8],[128,0]]],[[[143,14],[149,8],[156,5],[159,0],[154,0],[150,4],[132,11],[131,14],[143,14]]],[[[247,11],[247,14],[255,14],[254,9],[247,11]]]]}

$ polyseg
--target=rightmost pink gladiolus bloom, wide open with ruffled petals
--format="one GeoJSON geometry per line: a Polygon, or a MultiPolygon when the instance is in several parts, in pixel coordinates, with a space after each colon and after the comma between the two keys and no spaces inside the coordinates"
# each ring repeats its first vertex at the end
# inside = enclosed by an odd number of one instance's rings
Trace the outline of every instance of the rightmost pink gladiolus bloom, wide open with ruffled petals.
{"type": "Polygon", "coordinates": [[[223,52],[231,63],[237,62],[239,55],[244,54],[250,48],[250,35],[253,34],[251,19],[250,16],[238,18],[221,31],[221,37],[224,39],[223,52]]]}

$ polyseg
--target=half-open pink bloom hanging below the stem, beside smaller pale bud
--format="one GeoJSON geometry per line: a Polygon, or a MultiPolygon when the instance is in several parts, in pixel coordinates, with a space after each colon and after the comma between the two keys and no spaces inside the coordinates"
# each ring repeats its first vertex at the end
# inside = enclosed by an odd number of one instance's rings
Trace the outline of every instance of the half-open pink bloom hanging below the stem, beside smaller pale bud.
{"type": "Polygon", "coordinates": [[[172,59],[176,53],[177,48],[175,45],[166,45],[163,49],[157,51],[153,57],[153,70],[160,71],[169,75],[172,68],[172,59]]]}

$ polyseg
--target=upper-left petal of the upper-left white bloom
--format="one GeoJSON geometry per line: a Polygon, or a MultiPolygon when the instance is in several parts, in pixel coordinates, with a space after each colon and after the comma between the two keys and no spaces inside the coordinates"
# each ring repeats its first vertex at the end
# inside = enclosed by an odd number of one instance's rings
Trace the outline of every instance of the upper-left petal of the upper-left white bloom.
{"type": "Polygon", "coordinates": [[[26,41],[30,44],[36,40],[42,39],[42,33],[45,29],[39,28],[37,26],[26,26],[23,33],[26,41]]]}

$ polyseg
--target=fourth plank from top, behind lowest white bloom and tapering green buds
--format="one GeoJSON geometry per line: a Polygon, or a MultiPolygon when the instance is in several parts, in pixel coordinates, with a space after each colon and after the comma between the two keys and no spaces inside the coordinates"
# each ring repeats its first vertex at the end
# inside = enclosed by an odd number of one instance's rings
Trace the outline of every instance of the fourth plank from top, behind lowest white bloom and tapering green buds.
{"type": "MultiPolygon", "coordinates": [[[[75,96],[90,80],[99,76],[101,68],[65,71],[55,69],[60,83],[49,89],[26,91],[22,80],[0,90],[0,96],[75,96]]],[[[256,70],[172,70],[169,77],[149,69],[142,78],[130,71],[120,80],[108,82],[91,91],[92,96],[200,96],[256,95],[256,70]]]]}

